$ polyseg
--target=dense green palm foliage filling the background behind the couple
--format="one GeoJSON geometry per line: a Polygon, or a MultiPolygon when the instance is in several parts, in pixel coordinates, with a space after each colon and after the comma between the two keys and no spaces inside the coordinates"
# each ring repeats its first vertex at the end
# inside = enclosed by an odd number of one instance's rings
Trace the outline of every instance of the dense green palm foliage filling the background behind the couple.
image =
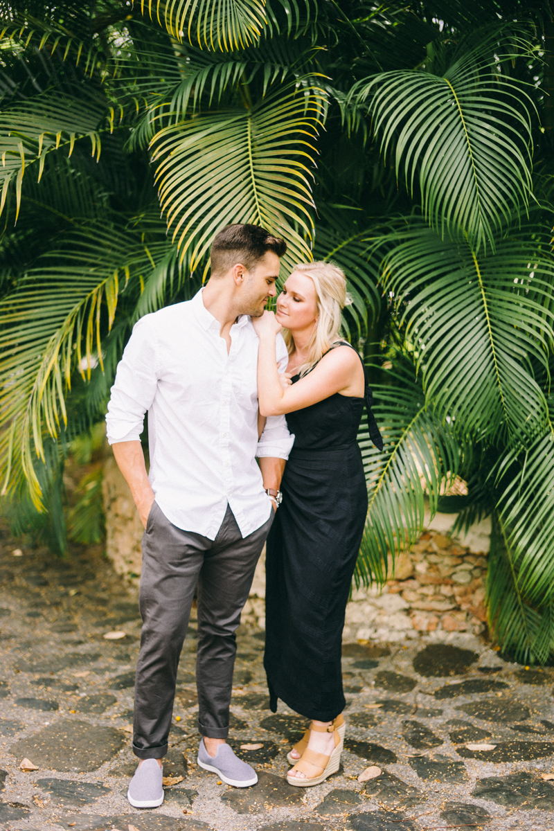
{"type": "Polygon", "coordinates": [[[103,417],[133,323],[197,290],[223,224],[263,224],[287,238],[285,272],[332,258],[355,299],[345,332],[385,436],[380,452],[360,433],[356,579],[385,579],[425,496],[460,527],[490,514],[494,636],[547,661],[548,4],[0,0],[0,15],[2,492],[59,517],[66,447],[103,417]],[[441,496],[455,477],[468,495],[441,496]]]}

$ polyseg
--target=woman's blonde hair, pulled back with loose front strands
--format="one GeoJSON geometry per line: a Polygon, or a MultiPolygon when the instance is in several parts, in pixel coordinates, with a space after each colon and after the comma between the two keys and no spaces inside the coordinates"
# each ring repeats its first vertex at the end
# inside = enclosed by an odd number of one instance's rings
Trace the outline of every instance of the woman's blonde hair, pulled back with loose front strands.
{"type": "MultiPolygon", "coordinates": [[[[298,263],[292,269],[310,277],[316,287],[316,325],[308,343],[307,360],[298,367],[299,375],[306,375],[321,356],[337,340],[341,330],[341,311],[350,305],[351,297],[346,292],[346,277],[335,263],[298,263]]],[[[288,329],[283,329],[288,354],[294,352],[294,340],[288,329]]]]}

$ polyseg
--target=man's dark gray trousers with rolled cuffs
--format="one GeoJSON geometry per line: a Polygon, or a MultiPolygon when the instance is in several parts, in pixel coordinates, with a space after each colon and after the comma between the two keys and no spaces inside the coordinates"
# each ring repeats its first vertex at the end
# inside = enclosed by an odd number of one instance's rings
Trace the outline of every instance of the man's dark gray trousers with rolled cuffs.
{"type": "Polygon", "coordinates": [[[154,502],[142,539],[133,750],[140,759],[167,753],[177,666],[198,584],[196,686],[199,731],[228,735],[237,644],[235,630],[273,521],[241,537],[233,511],[212,540],[176,528],[154,502]]]}

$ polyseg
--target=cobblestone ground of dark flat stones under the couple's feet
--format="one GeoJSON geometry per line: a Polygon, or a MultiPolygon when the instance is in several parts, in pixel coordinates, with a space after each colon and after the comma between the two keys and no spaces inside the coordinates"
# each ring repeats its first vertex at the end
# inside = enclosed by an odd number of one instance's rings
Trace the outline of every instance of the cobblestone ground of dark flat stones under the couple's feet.
{"type": "Polygon", "coordinates": [[[132,809],[136,595],[91,549],[61,562],[14,552],[5,529],[0,542],[0,829],[554,829],[554,785],[542,779],[554,760],[551,670],[503,661],[467,635],[346,644],[343,764],[304,790],[283,776],[305,722],[267,710],[263,632],[239,631],[230,742],[259,783],[237,790],[194,764],[194,620],[164,765],[174,784],[159,809],[132,809]],[[21,770],[24,759],[37,770],[21,770]],[[370,766],[380,774],[360,782],[370,766]]]}

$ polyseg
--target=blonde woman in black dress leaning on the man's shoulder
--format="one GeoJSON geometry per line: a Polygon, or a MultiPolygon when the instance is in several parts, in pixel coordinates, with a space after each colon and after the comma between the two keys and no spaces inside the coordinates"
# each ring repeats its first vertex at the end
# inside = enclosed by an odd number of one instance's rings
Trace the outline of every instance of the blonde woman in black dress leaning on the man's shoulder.
{"type": "MultiPolygon", "coordinates": [[[[277,312],[252,322],[260,338],[262,416],[287,414],[296,435],[282,479],[282,506],[267,538],[266,652],[272,711],[281,698],[311,719],[289,753],[290,784],[319,784],[338,770],[344,740],[341,637],[367,513],[356,435],[370,390],[354,347],[341,340],[346,279],[331,263],[302,263],[277,312]],[[275,335],[289,352],[279,380],[275,335]]],[[[371,437],[382,447],[368,411],[371,437]]]]}

